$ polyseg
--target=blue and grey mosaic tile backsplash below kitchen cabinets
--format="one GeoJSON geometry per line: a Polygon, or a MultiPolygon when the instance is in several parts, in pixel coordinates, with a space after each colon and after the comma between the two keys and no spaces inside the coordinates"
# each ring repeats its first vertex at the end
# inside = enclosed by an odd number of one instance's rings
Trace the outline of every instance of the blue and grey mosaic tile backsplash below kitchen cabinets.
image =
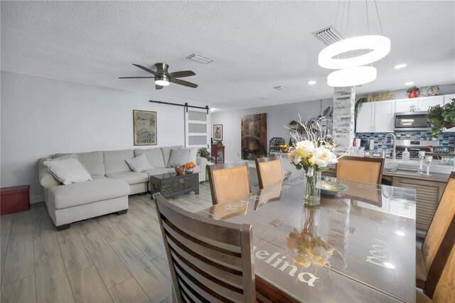
{"type": "MultiPolygon", "coordinates": [[[[356,139],[366,139],[368,144],[370,139],[375,140],[375,149],[390,149],[392,137],[387,138],[387,144],[385,147],[382,146],[382,139],[384,139],[386,132],[361,132],[355,134],[356,139]]],[[[397,139],[401,140],[431,140],[431,132],[396,132],[397,139]]],[[[368,146],[367,144],[367,146],[368,146]]],[[[442,138],[439,139],[440,147],[454,147],[455,146],[455,132],[443,132],[442,138]]],[[[367,147],[368,149],[368,147],[367,147]]]]}

